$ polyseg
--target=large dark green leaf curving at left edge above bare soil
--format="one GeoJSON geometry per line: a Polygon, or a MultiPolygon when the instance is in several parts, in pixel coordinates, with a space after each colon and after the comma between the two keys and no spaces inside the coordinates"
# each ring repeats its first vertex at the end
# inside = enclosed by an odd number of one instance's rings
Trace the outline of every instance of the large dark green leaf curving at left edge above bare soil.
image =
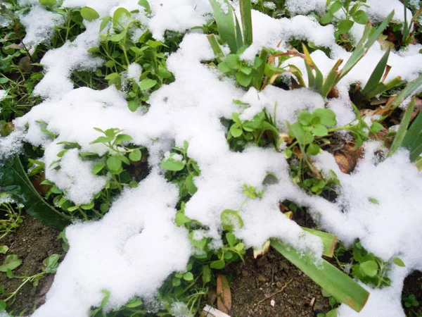
{"type": "Polygon", "coordinates": [[[0,164],[0,186],[4,192],[25,206],[25,211],[44,225],[63,230],[70,224],[70,217],[51,207],[32,186],[18,156],[0,164]]]}

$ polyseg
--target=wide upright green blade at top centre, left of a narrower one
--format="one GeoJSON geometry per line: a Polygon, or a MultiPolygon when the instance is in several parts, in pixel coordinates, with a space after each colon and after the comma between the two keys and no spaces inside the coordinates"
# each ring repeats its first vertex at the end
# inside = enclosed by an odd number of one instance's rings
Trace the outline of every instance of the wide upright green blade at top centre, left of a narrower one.
{"type": "Polygon", "coordinates": [[[238,50],[236,41],[236,26],[234,25],[233,8],[228,0],[210,0],[212,11],[214,11],[215,22],[219,37],[224,44],[228,44],[231,53],[238,50]]]}

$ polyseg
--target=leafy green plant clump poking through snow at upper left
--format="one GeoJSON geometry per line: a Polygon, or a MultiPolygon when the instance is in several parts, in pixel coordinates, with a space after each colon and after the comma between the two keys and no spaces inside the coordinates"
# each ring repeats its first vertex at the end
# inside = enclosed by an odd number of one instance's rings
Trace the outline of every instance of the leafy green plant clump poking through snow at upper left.
{"type": "MultiPolygon", "coordinates": [[[[144,6],[147,4],[147,1],[143,1],[144,6]]],[[[86,15],[96,18],[98,13],[96,15],[94,9],[85,8],[86,15]]],[[[174,45],[170,48],[164,42],[154,40],[148,30],[134,39],[132,32],[143,26],[125,8],[117,8],[113,18],[105,16],[101,19],[101,31],[106,30],[108,25],[111,26],[106,33],[100,35],[100,46],[88,51],[104,58],[106,68],[96,70],[94,80],[91,77],[84,78],[83,73],[78,74],[79,79],[84,82],[98,82],[97,85],[101,85],[104,79],[108,81],[108,85],[115,85],[117,89],[127,89],[128,107],[131,111],[136,111],[139,105],[146,105],[151,92],[174,81],[174,76],[166,66],[167,54],[174,51],[174,45]],[[134,69],[133,74],[130,73],[131,68],[134,69]]],[[[174,41],[174,32],[167,32],[167,38],[170,42],[174,41]]]]}

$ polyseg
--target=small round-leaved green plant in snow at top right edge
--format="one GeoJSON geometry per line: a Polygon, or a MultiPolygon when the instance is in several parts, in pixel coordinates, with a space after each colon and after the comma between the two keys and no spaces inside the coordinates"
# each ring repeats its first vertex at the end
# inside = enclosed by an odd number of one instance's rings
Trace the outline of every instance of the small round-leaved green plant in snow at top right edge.
{"type": "Polygon", "coordinates": [[[321,17],[319,22],[321,24],[327,24],[331,23],[333,19],[337,20],[335,38],[338,39],[340,35],[349,32],[354,23],[365,25],[368,22],[368,15],[361,9],[363,6],[368,7],[365,2],[366,0],[327,0],[327,12],[321,17]],[[343,11],[344,17],[335,17],[334,14],[340,10],[343,11]]]}

